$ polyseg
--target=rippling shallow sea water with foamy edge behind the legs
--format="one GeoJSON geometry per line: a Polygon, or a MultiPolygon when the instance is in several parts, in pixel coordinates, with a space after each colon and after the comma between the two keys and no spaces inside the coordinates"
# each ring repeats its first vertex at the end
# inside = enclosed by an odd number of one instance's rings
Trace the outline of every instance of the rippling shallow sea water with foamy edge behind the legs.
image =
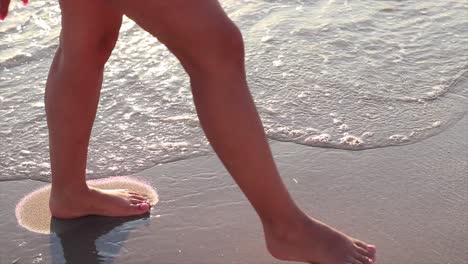
{"type": "MultiPolygon", "coordinates": [[[[0,180],[48,181],[43,93],[57,1],[0,22],[0,180]]],[[[436,135],[468,111],[468,2],[222,1],[244,34],[272,140],[363,150],[436,135]]],[[[210,152],[175,57],[125,19],[93,129],[90,178],[210,152]]]]}

